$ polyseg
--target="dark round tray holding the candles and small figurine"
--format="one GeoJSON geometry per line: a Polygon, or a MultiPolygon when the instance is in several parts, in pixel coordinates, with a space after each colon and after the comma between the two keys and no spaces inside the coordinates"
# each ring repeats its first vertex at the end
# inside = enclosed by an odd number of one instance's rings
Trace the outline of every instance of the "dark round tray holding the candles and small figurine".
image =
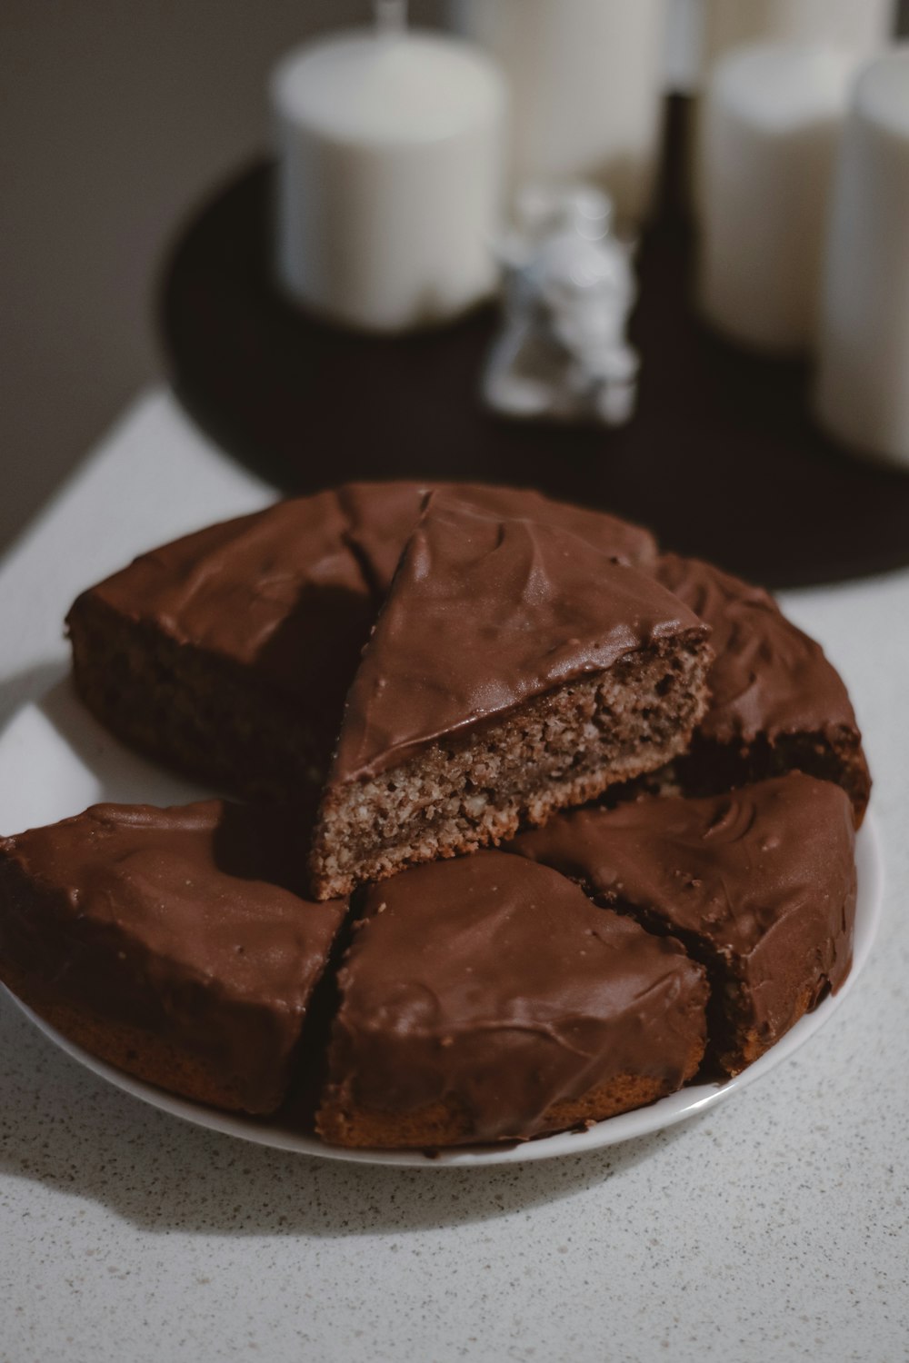
{"type": "Polygon", "coordinates": [[[771,587],[909,564],[909,476],[850,458],[812,425],[805,364],[733,349],[694,316],[691,233],[672,207],[679,164],[673,151],[642,241],[642,384],[621,429],[484,410],[493,307],[378,339],[285,303],[270,278],[267,164],[228,185],[168,262],[161,319],[176,391],[285,492],[403,476],[534,485],[771,587]]]}

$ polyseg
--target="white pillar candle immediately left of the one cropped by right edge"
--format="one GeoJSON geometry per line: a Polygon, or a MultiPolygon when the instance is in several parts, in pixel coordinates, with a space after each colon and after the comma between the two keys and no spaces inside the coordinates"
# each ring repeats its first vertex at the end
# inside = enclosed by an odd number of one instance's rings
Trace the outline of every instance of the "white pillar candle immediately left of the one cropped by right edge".
{"type": "Polygon", "coordinates": [[[700,106],[698,301],[721,331],[765,350],[815,334],[837,139],[857,57],[754,46],[714,70],[700,106]]]}

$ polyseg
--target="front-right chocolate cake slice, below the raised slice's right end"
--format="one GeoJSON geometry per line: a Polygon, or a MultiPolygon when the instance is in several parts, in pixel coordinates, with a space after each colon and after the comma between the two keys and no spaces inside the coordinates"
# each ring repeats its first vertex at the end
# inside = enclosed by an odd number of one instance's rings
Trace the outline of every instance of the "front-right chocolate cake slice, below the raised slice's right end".
{"type": "Polygon", "coordinates": [[[684,943],[710,977],[710,1054],[726,1074],[849,973],[854,831],[827,781],[793,773],[732,795],[575,810],[511,849],[684,943]]]}

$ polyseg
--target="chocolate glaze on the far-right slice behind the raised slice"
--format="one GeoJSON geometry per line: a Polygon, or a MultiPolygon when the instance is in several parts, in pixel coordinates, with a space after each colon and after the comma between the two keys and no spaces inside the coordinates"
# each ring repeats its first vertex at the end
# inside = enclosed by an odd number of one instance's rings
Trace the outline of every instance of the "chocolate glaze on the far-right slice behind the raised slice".
{"type": "Polygon", "coordinates": [[[713,699],[699,732],[717,743],[785,733],[856,732],[846,688],[823,649],[773,597],[699,559],[664,553],[657,577],[713,634],[713,699]]]}

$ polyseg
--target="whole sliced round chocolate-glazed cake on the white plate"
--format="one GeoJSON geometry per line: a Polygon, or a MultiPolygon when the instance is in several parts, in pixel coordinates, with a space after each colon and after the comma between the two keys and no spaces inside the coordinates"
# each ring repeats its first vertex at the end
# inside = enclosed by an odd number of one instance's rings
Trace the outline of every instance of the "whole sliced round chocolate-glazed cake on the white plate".
{"type": "Polygon", "coordinates": [[[839,988],[869,776],[765,592],[540,493],[357,484],[68,616],[86,706],[240,804],[0,840],[0,979],[327,1142],[526,1139],[732,1075],[839,988]]]}

